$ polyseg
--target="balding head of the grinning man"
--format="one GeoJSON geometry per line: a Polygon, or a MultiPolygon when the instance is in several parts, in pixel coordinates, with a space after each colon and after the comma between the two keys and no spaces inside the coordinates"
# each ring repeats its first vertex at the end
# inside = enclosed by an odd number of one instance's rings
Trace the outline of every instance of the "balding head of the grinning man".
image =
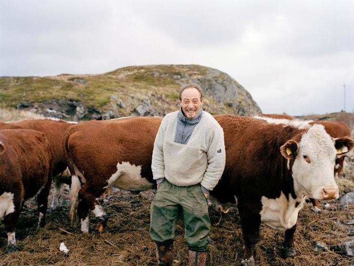
{"type": "Polygon", "coordinates": [[[203,94],[200,86],[195,83],[182,86],[180,90],[180,104],[184,115],[188,119],[195,118],[203,104],[203,94]]]}

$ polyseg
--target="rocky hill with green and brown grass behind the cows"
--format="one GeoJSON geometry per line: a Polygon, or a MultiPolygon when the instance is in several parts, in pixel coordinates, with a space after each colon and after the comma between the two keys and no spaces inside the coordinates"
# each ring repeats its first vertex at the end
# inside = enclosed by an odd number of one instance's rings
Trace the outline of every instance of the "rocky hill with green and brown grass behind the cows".
{"type": "Polygon", "coordinates": [[[212,114],[255,115],[251,95],[228,74],[200,65],[147,65],[103,74],[54,77],[1,77],[0,102],[60,119],[111,119],[163,116],[178,107],[179,88],[196,82],[204,109],[212,114]]]}

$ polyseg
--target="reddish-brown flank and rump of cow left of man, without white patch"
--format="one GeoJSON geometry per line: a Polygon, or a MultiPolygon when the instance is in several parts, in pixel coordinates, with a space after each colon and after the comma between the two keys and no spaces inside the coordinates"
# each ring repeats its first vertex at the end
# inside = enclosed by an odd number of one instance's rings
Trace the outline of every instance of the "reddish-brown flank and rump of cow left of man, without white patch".
{"type": "Polygon", "coordinates": [[[141,175],[151,181],[151,155],[160,123],[160,118],[132,117],[72,126],[71,160],[85,178],[112,175],[118,163],[129,162],[141,165],[141,175]]]}

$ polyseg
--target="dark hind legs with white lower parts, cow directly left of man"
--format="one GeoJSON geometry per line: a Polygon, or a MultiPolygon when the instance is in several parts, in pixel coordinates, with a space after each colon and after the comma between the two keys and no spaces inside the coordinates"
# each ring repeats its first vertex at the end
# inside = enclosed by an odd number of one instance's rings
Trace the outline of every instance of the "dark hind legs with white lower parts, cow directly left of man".
{"type": "Polygon", "coordinates": [[[98,224],[98,230],[102,232],[108,221],[108,215],[103,210],[102,206],[98,202],[98,198],[104,193],[105,189],[103,185],[97,185],[90,187],[89,183],[85,183],[79,192],[80,203],[78,206],[78,216],[81,222],[81,231],[84,233],[89,232],[89,209],[100,219],[98,224]]]}

